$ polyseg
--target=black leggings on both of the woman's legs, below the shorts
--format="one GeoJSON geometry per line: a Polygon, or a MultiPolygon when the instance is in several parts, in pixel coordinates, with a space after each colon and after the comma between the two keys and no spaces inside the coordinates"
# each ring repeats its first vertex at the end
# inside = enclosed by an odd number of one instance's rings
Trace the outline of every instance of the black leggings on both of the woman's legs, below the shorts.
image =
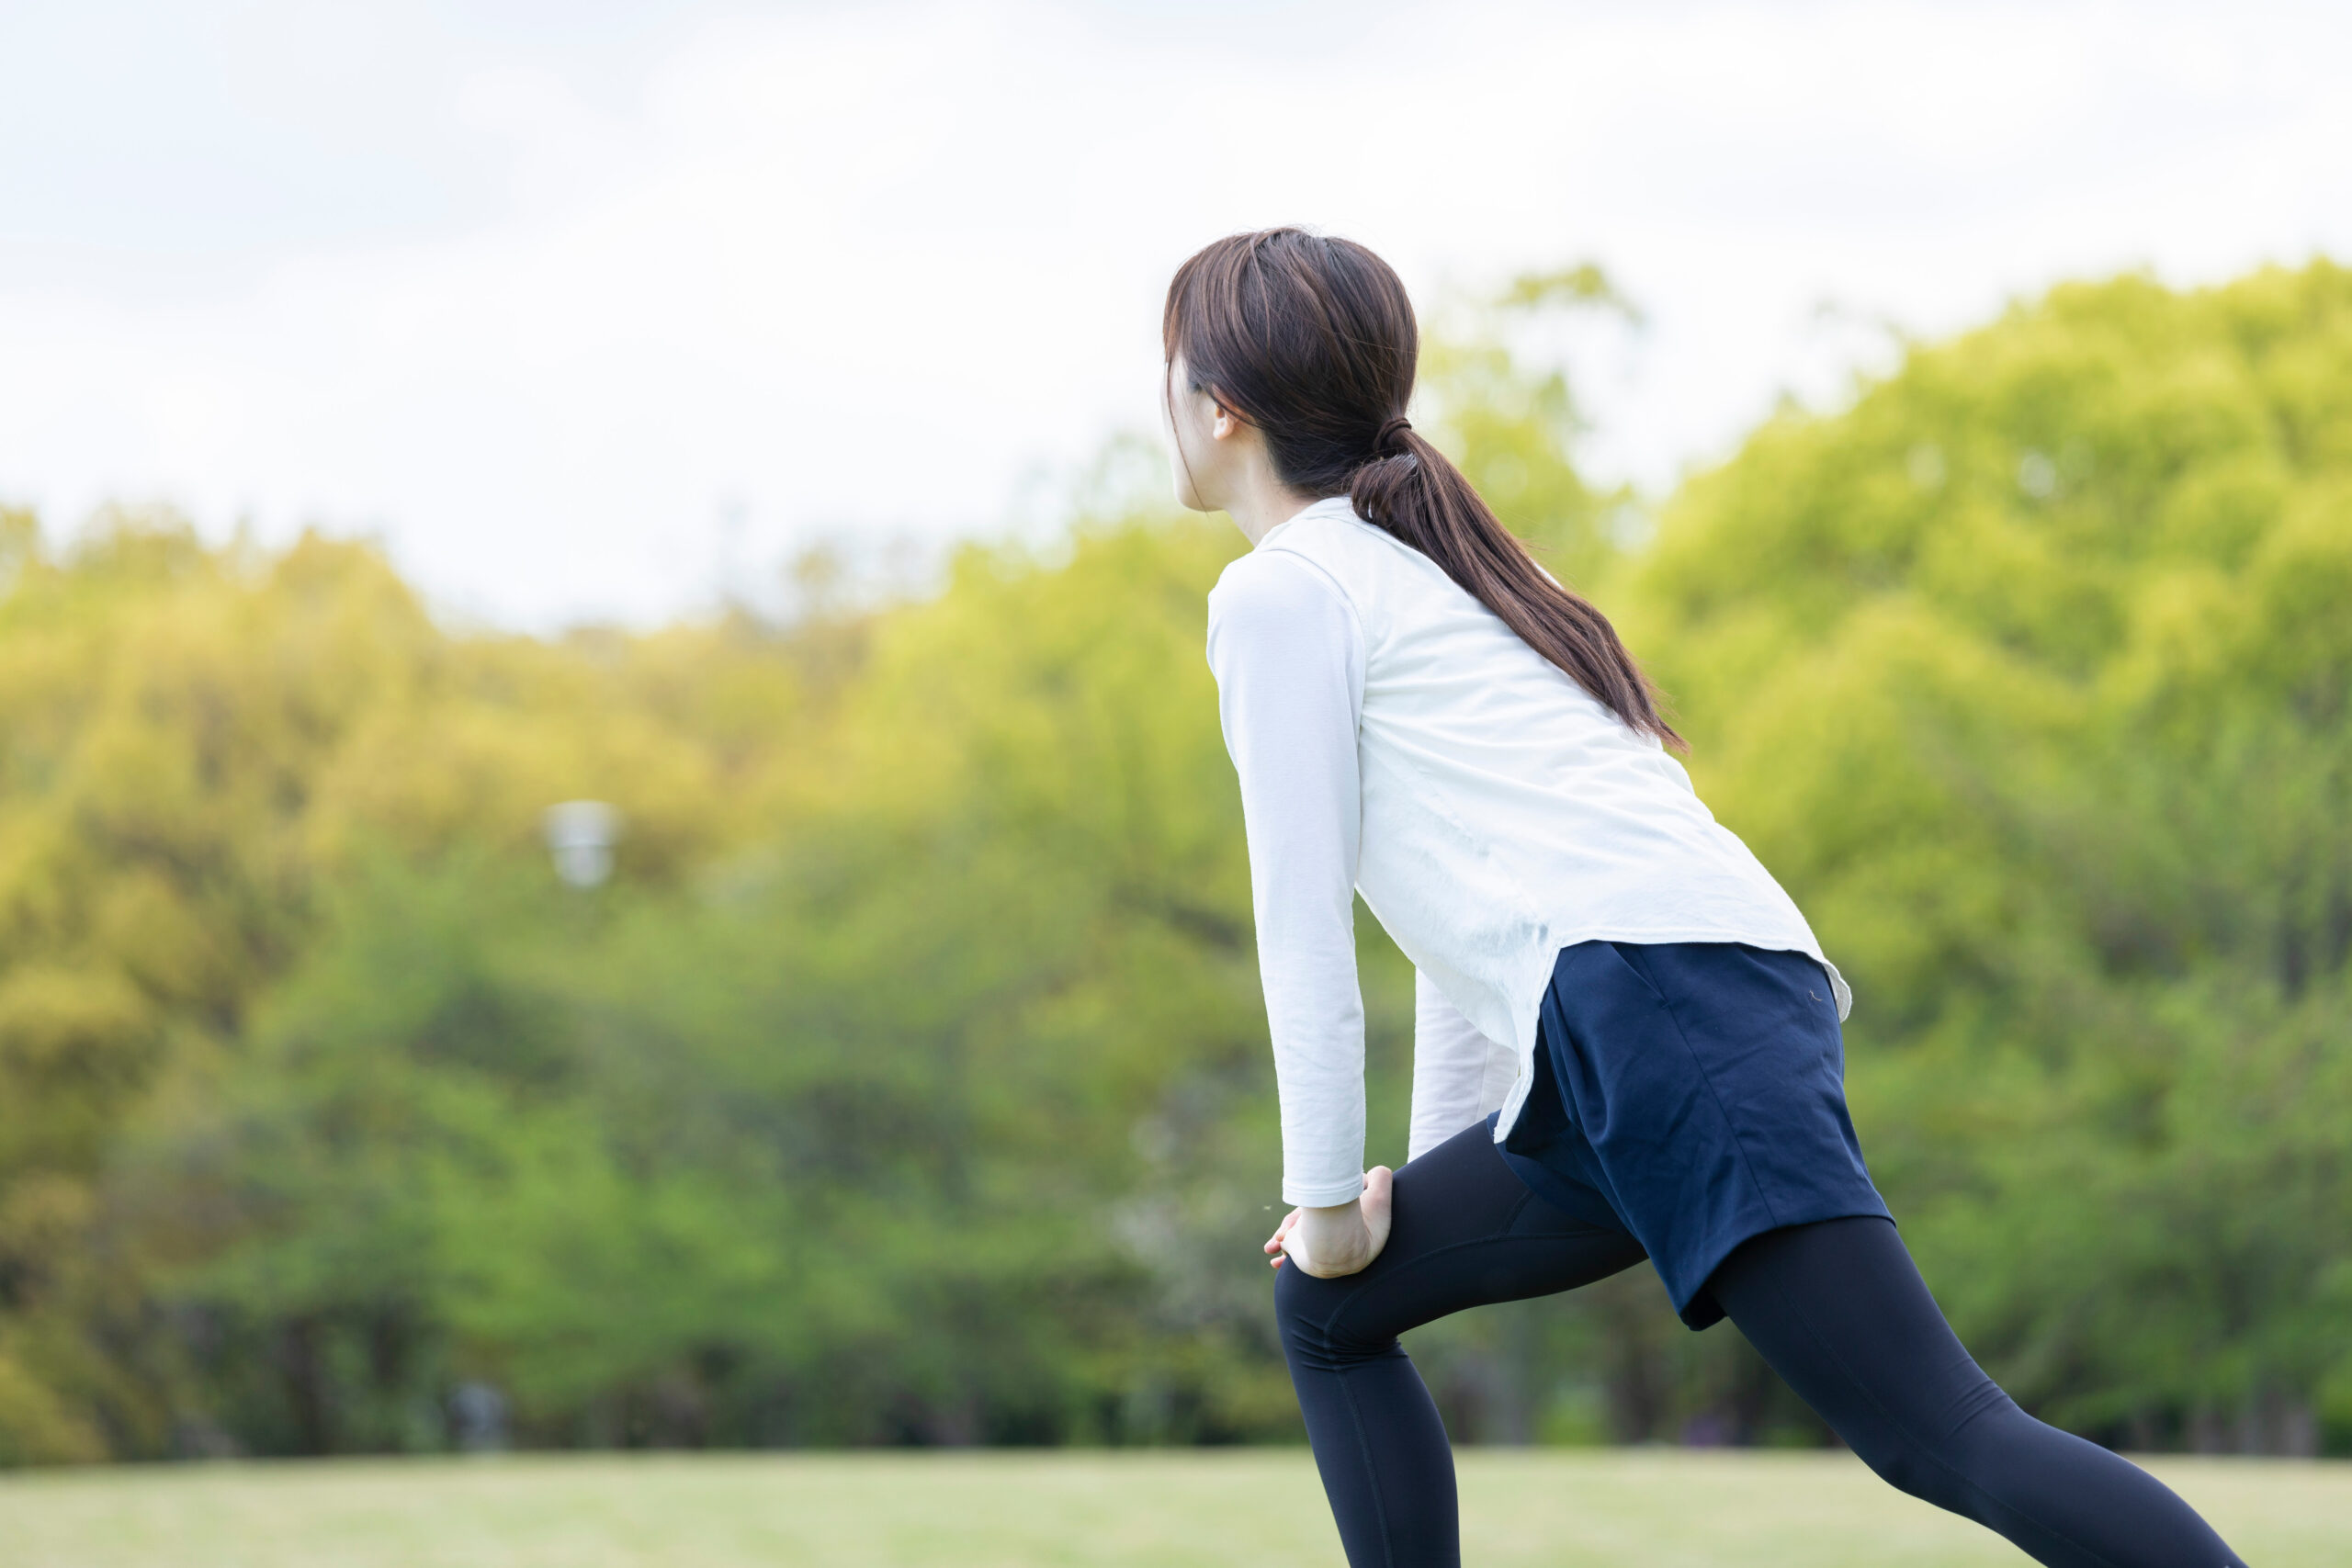
{"type": "MultiPolygon", "coordinates": [[[[1315,1279],[1282,1265],[1282,1347],[1352,1568],[1461,1563],[1454,1453],[1397,1335],[1642,1258],[1632,1237],[1531,1194],[1472,1126],[1397,1171],[1395,1225],[1369,1269],[1315,1279]]],[[[1910,1495],[2063,1568],[2244,1568],[2161,1481],[1994,1387],[1886,1220],[1766,1232],[1708,1284],[1773,1371],[1910,1495]]]]}

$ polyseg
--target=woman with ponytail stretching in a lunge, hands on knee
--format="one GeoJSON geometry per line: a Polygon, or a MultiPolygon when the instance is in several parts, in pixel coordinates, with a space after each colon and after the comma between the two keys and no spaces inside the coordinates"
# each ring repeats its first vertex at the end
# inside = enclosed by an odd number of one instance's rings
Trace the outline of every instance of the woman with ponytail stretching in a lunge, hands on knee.
{"type": "Polygon", "coordinates": [[[2237,1566],[1952,1338],[1846,1119],[1844,980],[1693,797],[1609,621],[1406,423],[1397,275],[1296,228],[1218,240],[1164,346],[1178,498],[1254,545],[1209,595],[1209,663],[1296,1204],[1265,1251],[1348,1561],[1461,1559],[1397,1335],[1649,1258],[1903,1490],[2044,1563],[2237,1566]],[[1395,1175],[1362,1168],[1357,891],[1418,971],[1395,1175]]]}

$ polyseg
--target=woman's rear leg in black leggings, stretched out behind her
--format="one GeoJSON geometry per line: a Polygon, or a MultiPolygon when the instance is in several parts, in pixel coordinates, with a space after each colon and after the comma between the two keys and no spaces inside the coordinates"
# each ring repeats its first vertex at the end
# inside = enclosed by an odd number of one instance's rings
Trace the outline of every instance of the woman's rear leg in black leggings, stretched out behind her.
{"type": "Polygon", "coordinates": [[[1740,1333],[1893,1486],[2053,1568],[2244,1568],[2171,1488],[2016,1406],[1889,1220],[1766,1232],[1708,1281],[1740,1333]]]}

